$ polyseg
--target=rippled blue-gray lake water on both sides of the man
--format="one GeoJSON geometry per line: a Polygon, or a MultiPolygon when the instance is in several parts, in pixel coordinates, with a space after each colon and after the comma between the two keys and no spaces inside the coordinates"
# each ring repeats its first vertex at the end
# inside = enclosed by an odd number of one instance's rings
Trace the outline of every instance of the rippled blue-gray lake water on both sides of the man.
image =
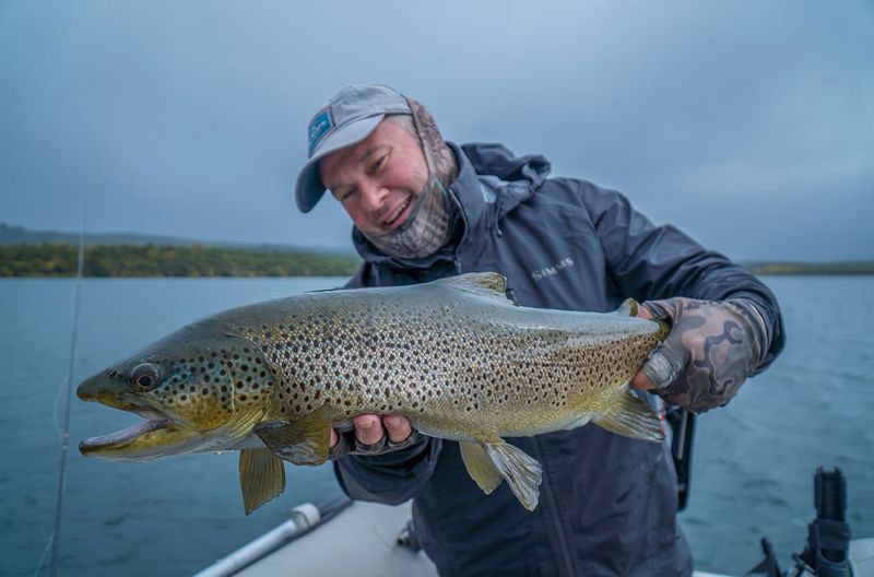
{"type": "MultiPolygon", "coordinates": [[[[704,570],[744,574],[766,535],[786,567],[806,539],[818,466],[842,469],[854,535],[874,537],[874,278],[765,281],[780,298],[789,344],[729,407],[698,420],[681,521],[704,570]]],[[[75,381],[198,317],[341,283],[86,280],[75,381]]],[[[0,575],[48,574],[73,287],[71,280],[0,280],[0,575]]],[[[73,400],[60,575],[190,575],[279,525],[295,505],[338,491],[328,467],[286,466],[285,493],[246,517],[235,454],[149,463],[79,455],[80,439],[137,421],[73,400]]]]}

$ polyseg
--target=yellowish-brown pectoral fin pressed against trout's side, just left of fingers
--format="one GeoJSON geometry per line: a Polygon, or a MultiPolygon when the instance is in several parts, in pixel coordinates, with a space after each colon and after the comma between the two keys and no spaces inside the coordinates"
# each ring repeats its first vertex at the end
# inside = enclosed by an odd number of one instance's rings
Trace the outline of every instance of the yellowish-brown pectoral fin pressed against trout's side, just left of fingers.
{"type": "Polygon", "coordinates": [[[328,460],[331,424],[324,405],[293,421],[270,421],[255,427],[267,447],[295,464],[321,464],[328,460]]]}

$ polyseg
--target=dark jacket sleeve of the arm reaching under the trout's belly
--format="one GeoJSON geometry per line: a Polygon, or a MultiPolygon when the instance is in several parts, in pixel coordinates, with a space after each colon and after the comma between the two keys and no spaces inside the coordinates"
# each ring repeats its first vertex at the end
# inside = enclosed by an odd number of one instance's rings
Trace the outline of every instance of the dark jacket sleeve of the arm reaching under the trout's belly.
{"type": "MultiPolygon", "coordinates": [[[[363,263],[345,288],[367,286],[368,264],[363,263]]],[[[428,482],[441,441],[418,435],[410,447],[376,456],[347,455],[334,461],[340,487],[352,499],[400,505],[428,482]]]]}

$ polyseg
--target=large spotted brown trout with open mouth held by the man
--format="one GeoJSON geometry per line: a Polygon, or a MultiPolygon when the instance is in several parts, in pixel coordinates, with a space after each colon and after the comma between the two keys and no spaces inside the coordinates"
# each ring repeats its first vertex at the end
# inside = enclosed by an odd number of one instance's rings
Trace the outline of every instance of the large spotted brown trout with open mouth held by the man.
{"type": "Polygon", "coordinates": [[[491,493],[506,480],[529,510],[541,468],[501,437],[589,421],[660,441],[658,415],[628,389],[665,335],[637,318],[518,306],[506,279],[471,273],[391,288],[324,291],[189,325],[80,385],[78,395],[146,421],[84,440],[83,455],[144,460],[240,450],[246,513],[285,486],[282,461],[320,464],[330,427],[401,414],[458,440],[491,493]]]}

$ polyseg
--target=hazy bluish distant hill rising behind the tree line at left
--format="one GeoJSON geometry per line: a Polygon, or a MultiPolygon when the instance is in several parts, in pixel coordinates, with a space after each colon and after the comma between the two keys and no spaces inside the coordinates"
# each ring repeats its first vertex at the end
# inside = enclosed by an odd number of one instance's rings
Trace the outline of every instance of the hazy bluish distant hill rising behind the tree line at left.
{"type": "MultiPolygon", "coordinates": [[[[23,226],[15,226],[0,222],[0,246],[22,244],[56,244],[63,243],[79,245],[79,233],[61,231],[32,231],[23,226]]],[[[302,247],[282,244],[256,243],[225,243],[197,240],[181,236],[161,236],[138,233],[86,233],[87,245],[115,245],[115,246],[211,246],[221,248],[251,249],[251,250],[288,250],[292,252],[316,252],[329,255],[353,255],[352,249],[338,250],[320,247],[302,247]]]]}

